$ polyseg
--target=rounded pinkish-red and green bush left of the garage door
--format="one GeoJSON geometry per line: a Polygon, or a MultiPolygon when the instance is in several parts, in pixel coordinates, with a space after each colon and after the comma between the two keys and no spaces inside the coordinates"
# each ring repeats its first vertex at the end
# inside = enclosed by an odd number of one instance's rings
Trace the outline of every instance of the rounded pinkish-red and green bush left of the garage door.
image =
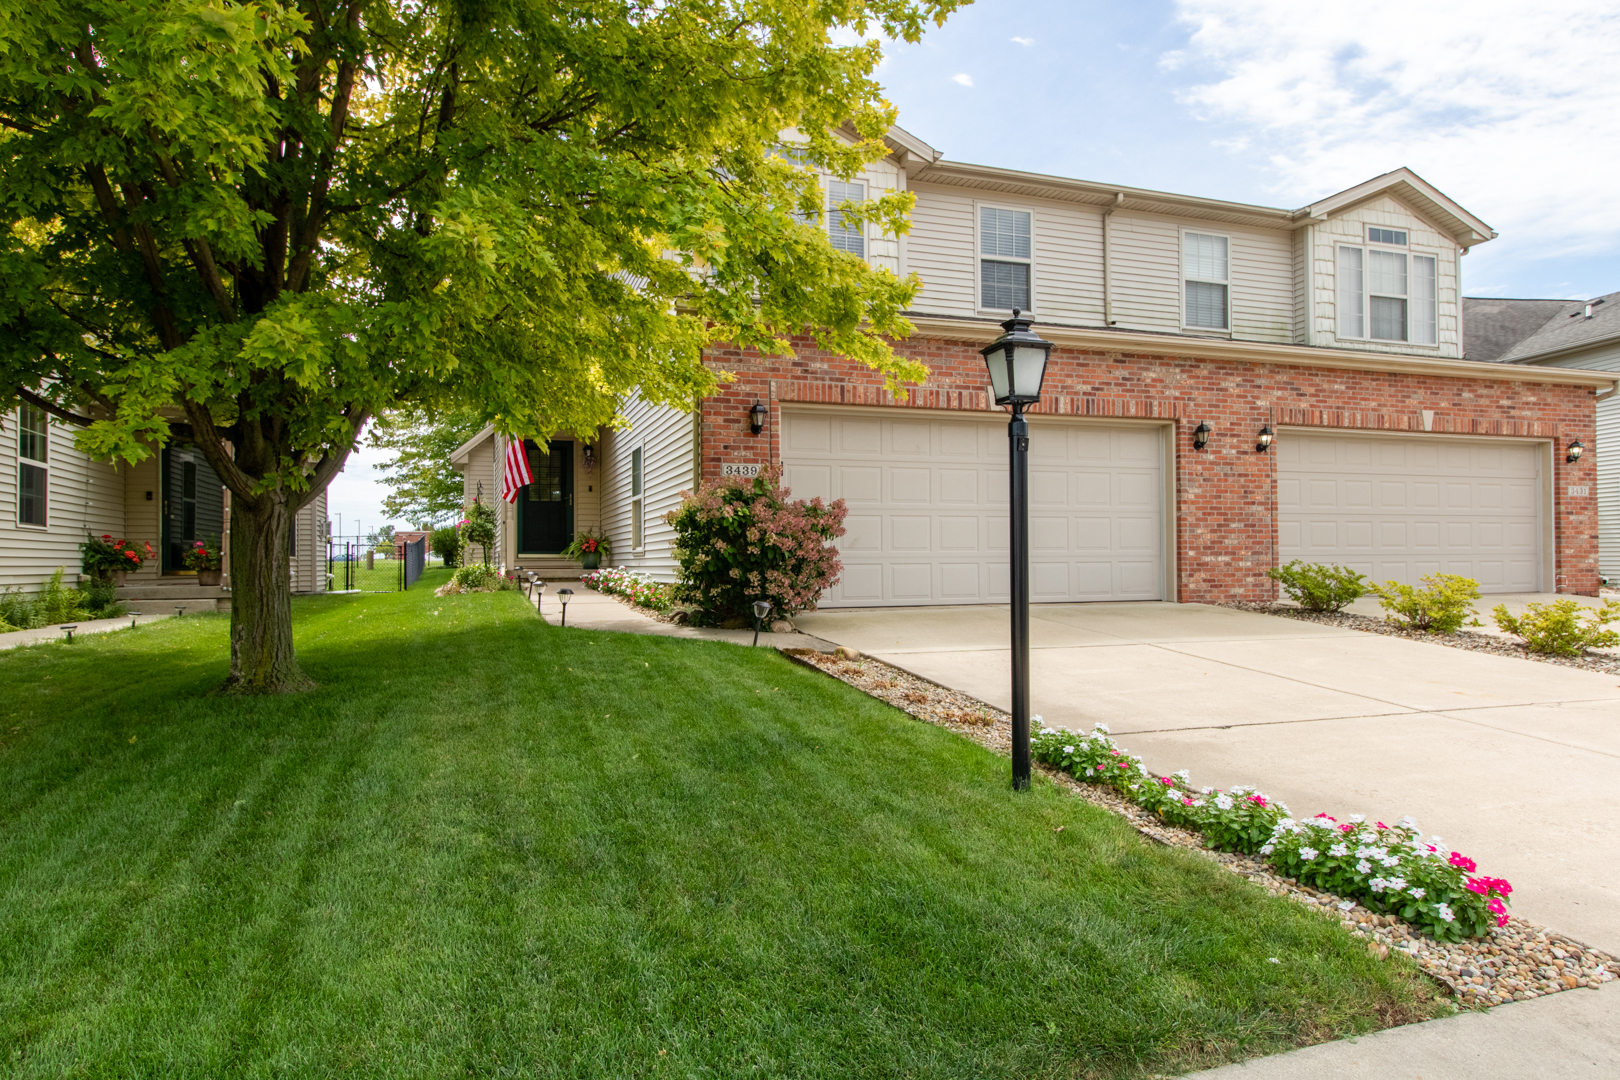
{"type": "Polygon", "coordinates": [[[748,619],[753,601],[792,615],[816,606],[844,565],[829,541],[844,534],[844,500],[791,500],[781,470],[682,492],[664,520],[676,529],[676,599],[705,620],[748,619]]]}

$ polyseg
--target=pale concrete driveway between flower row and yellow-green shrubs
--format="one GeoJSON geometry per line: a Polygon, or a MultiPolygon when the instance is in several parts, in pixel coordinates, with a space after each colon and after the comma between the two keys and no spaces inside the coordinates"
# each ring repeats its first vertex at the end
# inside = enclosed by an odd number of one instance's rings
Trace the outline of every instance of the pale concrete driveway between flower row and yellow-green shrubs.
{"type": "MultiPolygon", "coordinates": [[[[1009,704],[1004,607],[795,622],[1009,704]]],[[[1048,724],[1102,721],[1296,814],[1409,813],[1511,881],[1516,913],[1620,954],[1620,677],[1202,604],[1043,604],[1030,640],[1048,724]]]]}

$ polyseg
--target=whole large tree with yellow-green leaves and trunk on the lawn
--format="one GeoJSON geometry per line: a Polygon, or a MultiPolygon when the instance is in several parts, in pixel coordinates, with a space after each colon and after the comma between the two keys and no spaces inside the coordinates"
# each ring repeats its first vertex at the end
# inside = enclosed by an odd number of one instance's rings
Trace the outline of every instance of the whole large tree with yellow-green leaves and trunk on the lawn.
{"type": "Polygon", "coordinates": [[[961,3],[6,3],[0,403],[100,457],[194,442],[233,492],[232,680],[303,685],[287,517],[384,410],[586,431],[799,332],[923,376],[885,340],[917,282],[826,243],[815,172],[885,152],[859,37],[961,3]]]}

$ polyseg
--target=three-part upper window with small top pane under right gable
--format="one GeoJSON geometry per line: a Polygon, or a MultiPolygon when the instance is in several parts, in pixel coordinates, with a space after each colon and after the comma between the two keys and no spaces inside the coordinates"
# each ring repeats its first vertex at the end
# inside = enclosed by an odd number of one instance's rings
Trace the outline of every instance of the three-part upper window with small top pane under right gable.
{"type": "MultiPolygon", "coordinates": [[[[1367,230],[1369,238],[1375,233],[1406,243],[1403,232],[1367,230]]],[[[1340,244],[1338,337],[1435,345],[1437,272],[1434,256],[1340,244]]]]}

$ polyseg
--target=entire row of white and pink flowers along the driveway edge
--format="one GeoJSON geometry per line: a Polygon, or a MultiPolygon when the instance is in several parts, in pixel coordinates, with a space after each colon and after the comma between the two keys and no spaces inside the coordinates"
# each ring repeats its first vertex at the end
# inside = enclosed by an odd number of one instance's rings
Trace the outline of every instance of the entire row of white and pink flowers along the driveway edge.
{"type": "Polygon", "coordinates": [[[1042,727],[1030,737],[1030,756],[1202,832],[1217,850],[1260,855],[1298,881],[1398,915],[1437,941],[1477,938],[1492,921],[1508,921],[1513,886],[1474,876],[1474,860],[1447,852],[1440,837],[1424,840],[1411,818],[1393,826],[1369,826],[1359,814],[1345,824],[1327,814],[1294,821],[1288,806],[1252,787],[1192,790],[1186,769],[1155,774],[1102,724],[1090,733],[1042,727]]]}

